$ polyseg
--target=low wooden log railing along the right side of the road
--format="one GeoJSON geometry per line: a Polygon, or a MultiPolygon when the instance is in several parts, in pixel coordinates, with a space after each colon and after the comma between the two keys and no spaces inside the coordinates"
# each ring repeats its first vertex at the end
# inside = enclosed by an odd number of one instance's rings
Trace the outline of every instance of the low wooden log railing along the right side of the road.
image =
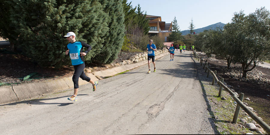
{"type": "Polygon", "coordinates": [[[212,71],[209,68],[209,62],[207,63],[207,60],[203,60],[202,57],[200,57],[195,51],[193,52],[194,56],[196,59],[198,59],[198,61],[200,60],[200,65],[202,65],[203,62],[205,62],[203,69],[205,68],[205,72],[208,70],[207,73],[207,77],[209,76],[209,73],[211,73],[211,75],[213,76],[213,81],[212,81],[212,85],[214,85],[215,81],[217,81],[217,83],[220,85],[219,88],[219,93],[218,93],[218,97],[221,96],[221,92],[222,92],[222,88],[224,88],[227,92],[229,92],[232,96],[232,98],[235,100],[235,102],[237,103],[236,105],[236,109],[235,109],[235,113],[232,119],[232,123],[236,123],[237,118],[238,118],[238,114],[240,111],[240,107],[252,118],[254,119],[268,134],[270,134],[270,127],[269,125],[267,125],[264,121],[262,121],[262,119],[260,119],[255,113],[253,113],[249,108],[247,108],[246,105],[243,104],[242,100],[244,98],[244,93],[240,93],[239,98],[237,97],[237,95],[235,95],[234,92],[232,92],[232,90],[230,90],[226,85],[223,84],[223,78],[221,78],[220,80],[218,80],[216,74],[217,71],[212,71]]]}

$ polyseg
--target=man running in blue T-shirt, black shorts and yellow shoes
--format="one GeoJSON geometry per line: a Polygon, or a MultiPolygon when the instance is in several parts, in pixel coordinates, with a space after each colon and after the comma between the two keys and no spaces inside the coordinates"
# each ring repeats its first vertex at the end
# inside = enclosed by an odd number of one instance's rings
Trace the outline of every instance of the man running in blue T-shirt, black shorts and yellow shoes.
{"type": "Polygon", "coordinates": [[[148,72],[147,73],[151,73],[151,69],[150,69],[150,60],[152,59],[153,65],[154,65],[154,72],[156,72],[156,63],[155,63],[155,51],[157,51],[157,47],[155,44],[153,44],[153,39],[149,40],[149,44],[147,45],[147,50],[148,50],[148,72]]]}

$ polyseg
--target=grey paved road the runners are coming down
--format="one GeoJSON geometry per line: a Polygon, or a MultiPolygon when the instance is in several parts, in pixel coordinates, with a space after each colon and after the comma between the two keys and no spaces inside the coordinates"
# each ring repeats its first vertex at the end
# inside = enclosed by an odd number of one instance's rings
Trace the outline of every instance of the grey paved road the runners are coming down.
{"type": "Polygon", "coordinates": [[[190,51],[44,99],[0,106],[1,134],[215,134],[190,51]],[[152,70],[153,70],[153,65],[152,70]]]}

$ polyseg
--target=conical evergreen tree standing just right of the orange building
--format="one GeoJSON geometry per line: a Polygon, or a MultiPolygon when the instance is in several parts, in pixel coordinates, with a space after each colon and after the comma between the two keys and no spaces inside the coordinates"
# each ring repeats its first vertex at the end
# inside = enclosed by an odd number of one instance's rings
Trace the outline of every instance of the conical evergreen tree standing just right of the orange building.
{"type": "Polygon", "coordinates": [[[174,41],[177,43],[177,40],[181,40],[182,39],[182,33],[179,30],[179,26],[176,20],[176,17],[174,17],[173,19],[173,24],[172,24],[172,33],[169,34],[168,39],[169,41],[174,41]]]}

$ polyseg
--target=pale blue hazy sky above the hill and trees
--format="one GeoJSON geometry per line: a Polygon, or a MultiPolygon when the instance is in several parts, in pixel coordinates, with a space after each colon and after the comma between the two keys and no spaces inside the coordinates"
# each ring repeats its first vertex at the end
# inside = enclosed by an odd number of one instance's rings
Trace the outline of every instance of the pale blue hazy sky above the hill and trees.
{"type": "MultiPolygon", "coordinates": [[[[270,0],[128,0],[133,8],[140,4],[147,15],[161,16],[161,21],[171,23],[176,17],[179,28],[188,30],[191,18],[195,29],[211,24],[231,21],[234,12],[255,12],[256,8],[270,10],[270,0]]],[[[145,12],[144,12],[145,13],[145,12]]]]}

